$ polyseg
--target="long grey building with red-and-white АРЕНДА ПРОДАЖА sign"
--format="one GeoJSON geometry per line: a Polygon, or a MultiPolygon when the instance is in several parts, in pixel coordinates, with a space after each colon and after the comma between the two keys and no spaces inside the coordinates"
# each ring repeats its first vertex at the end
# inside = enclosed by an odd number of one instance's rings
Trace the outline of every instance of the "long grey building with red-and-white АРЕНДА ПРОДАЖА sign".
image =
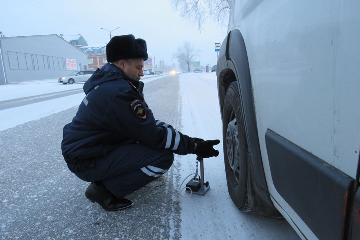
{"type": "Polygon", "coordinates": [[[87,54],[56,34],[0,37],[0,85],[57,79],[87,68],[87,54]]]}

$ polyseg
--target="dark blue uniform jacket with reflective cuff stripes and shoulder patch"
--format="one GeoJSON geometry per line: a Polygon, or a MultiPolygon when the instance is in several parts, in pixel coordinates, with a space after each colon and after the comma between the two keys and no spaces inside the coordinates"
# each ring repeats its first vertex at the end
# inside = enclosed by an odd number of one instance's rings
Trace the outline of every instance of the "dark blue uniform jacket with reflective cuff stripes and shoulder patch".
{"type": "Polygon", "coordinates": [[[62,155],[72,172],[86,170],[95,159],[124,144],[138,142],[180,155],[193,152],[193,138],[154,119],[143,86],[109,63],[84,84],[86,97],[63,128],[62,155]]]}

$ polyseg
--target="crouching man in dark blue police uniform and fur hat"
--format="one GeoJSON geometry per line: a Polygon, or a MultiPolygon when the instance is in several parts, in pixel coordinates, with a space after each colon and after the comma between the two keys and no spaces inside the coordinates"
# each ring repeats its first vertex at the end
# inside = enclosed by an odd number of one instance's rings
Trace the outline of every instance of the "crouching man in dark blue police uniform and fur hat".
{"type": "Polygon", "coordinates": [[[168,171],[173,153],[218,156],[219,140],[191,138],[155,120],[142,94],[146,42],[115,36],[107,63],[84,84],[86,97],[63,128],[62,155],[77,177],[92,182],[85,195],[105,210],[131,207],[126,195],[168,171]]]}

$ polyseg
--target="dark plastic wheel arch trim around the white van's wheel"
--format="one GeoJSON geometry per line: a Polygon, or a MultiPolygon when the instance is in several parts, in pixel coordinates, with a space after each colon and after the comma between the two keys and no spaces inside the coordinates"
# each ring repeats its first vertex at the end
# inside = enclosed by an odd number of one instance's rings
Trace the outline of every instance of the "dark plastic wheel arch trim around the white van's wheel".
{"type": "Polygon", "coordinates": [[[227,35],[224,43],[226,43],[224,48],[226,52],[221,57],[222,61],[226,59],[227,67],[222,68],[218,73],[221,117],[227,89],[232,82],[237,81],[240,90],[241,107],[244,113],[246,138],[251,154],[251,160],[248,162],[248,198],[250,208],[253,212],[261,215],[280,217],[279,212],[271,201],[263,168],[245,42],[241,32],[238,29],[234,29],[227,35]]]}

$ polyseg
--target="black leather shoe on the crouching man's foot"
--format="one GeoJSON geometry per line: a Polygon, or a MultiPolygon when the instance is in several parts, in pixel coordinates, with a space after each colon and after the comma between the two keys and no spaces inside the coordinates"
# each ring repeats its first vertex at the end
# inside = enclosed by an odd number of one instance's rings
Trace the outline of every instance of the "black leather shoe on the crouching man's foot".
{"type": "Polygon", "coordinates": [[[97,202],[106,211],[118,211],[129,208],[133,205],[131,200],[117,198],[109,192],[106,187],[98,186],[92,182],[85,192],[85,196],[92,202],[97,202]]]}

